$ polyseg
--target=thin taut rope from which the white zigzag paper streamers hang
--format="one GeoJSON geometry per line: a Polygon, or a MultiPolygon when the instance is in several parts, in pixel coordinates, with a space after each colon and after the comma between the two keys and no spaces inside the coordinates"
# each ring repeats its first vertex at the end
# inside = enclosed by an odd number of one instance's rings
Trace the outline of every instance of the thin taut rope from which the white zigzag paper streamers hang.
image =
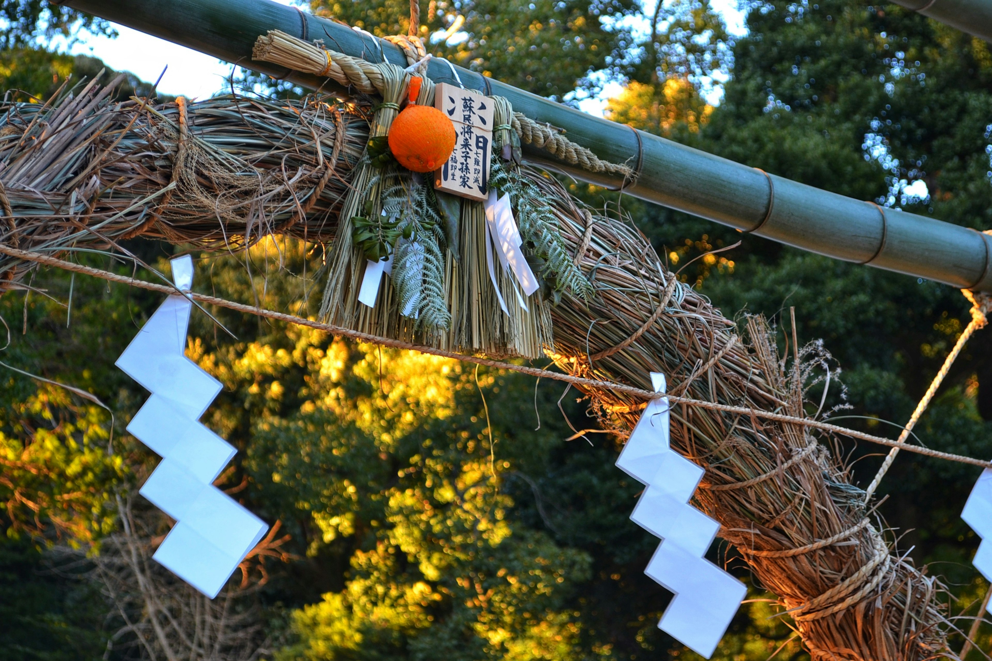
{"type": "Polygon", "coordinates": [[[488,358],[480,358],[478,356],[466,356],[464,354],[457,354],[452,351],[445,351],[443,349],[436,349],[434,347],[428,347],[425,345],[413,344],[411,342],[394,340],[392,338],[387,338],[387,337],[380,337],[378,335],[372,335],[370,333],[362,333],[360,331],[352,330],[350,328],[342,328],[341,326],[324,324],[318,321],[313,321],[312,319],[305,319],[304,317],[298,317],[293,314],[286,314],[284,312],[267,310],[265,308],[255,307],[253,305],[245,305],[244,303],[236,303],[234,301],[230,301],[225,298],[218,298],[216,296],[208,296],[206,294],[193,293],[190,291],[181,291],[175,285],[156,284],[154,282],[148,282],[146,280],[141,280],[136,277],[112,274],[108,271],[93,269],[92,267],[84,267],[79,264],[72,264],[71,262],[65,262],[54,257],[49,257],[48,255],[41,255],[39,253],[30,253],[27,251],[17,250],[15,248],[10,248],[3,245],[0,245],[0,253],[21,260],[26,260],[28,262],[36,262],[38,264],[44,264],[47,266],[56,267],[62,269],[63,271],[70,271],[84,275],[92,275],[94,277],[99,277],[101,279],[109,280],[111,282],[119,282],[121,284],[127,284],[142,289],[148,289],[149,291],[159,291],[161,293],[166,293],[166,294],[179,294],[182,296],[186,296],[186,298],[188,298],[189,300],[198,301],[201,303],[207,303],[209,305],[216,305],[218,307],[225,307],[227,309],[235,310],[238,312],[246,312],[248,314],[254,314],[268,319],[275,319],[277,321],[285,321],[288,323],[296,324],[298,326],[307,326],[308,328],[321,330],[330,333],[331,335],[340,335],[342,337],[349,337],[353,340],[358,340],[359,342],[379,344],[384,347],[393,347],[395,349],[406,349],[410,351],[417,351],[422,354],[431,354],[432,356],[439,356],[441,358],[449,358],[452,360],[462,361],[465,363],[484,365],[486,367],[495,368],[497,370],[506,370],[508,372],[519,372],[521,374],[526,374],[531,377],[539,377],[542,379],[552,379],[555,381],[564,382],[566,384],[571,384],[572,386],[584,386],[588,388],[597,388],[603,390],[611,390],[613,392],[621,392],[624,394],[629,394],[634,397],[638,397],[639,399],[659,399],[662,397],[668,397],[670,402],[679,403],[686,406],[694,406],[696,408],[707,408],[710,410],[723,411],[725,413],[736,413],[738,415],[753,415],[755,417],[764,418],[766,420],[775,420],[776,422],[797,424],[804,427],[819,429],[821,431],[825,431],[828,433],[840,434],[841,436],[847,436],[849,438],[855,438],[858,440],[867,441],[869,443],[875,443],[877,445],[884,445],[890,448],[900,448],[908,452],[916,452],[917,454],[925,455],[927,457],[933,457],[936,459],[945,459],[947,461],[958,462],[961,464],[980,466],[982,468],[992,468],[992,462],[989,461],[983,461],[981,459],[974,459],[972,457],[965,457],[962,455],[955,455],[949,452],[940,452],[938,450],[931,450],[930,448],[924,448],[918,445],[908,445],[906,443],[899,443],[898,441],[893,441],[888,438],[882,438],[881,436],[872,436],[871,434],[865,434],[860,431],[855,431],[854,429],[848,429],[846,427],[840,427],[835,424],[830,424],[828,422],[820,422],[819,420],[813,420],[810,418],[801,418],[793,415],[784,415],[782,413],[773,413],[771,411],[765,411],[760,408],[750,408],[748,406],[732,406],[730,404],[719,404],[716,402],[705,401],[702,399],[692,399],[690,397],[681,397],[681,396],[665,394],[664,392],[654,392],[652,390],[645,390],[643,388],[635,387],[635,386],[625,386],[624,384],[614,384],[612,382],[598,381],[595,379],[584,379],[582,377],[573,377],[571,375],[561,374],[559,372],[549,372],[548,370],[542,370],[540,368],[531,368],[524,365],[514,365],[512,363],[494,361],[488,358]]]}

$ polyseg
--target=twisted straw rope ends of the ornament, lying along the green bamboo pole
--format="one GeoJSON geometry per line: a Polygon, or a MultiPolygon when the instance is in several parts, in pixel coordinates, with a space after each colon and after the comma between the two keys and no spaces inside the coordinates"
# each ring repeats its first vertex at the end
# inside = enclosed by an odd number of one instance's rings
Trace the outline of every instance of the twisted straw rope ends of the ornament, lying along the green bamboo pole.
{"type": "MultiPolygon", "coordinates": [[[[416,46],[417,41],[410,37],[386,39],[400,47],[408,61],[414,62],[427,55],[426,49],[423,51],[424,55],[421,55],[422,51],[416,46]]],[[[378,67],[384,64],[372,64],[360,57],[322,49],[279,30],[270,30],[258,38],[252,50],[252,59],[315,73],[330,78],[345,88],[353,88],[365,94],[382,92],[383,76],[378,67]]],[[[578,165],[590,172],[609,172],[624,177],[632,174],[630,166],[603,161],[590,150],[562,136],[552,126],[535,122],[523,113],[513,114],[511,126],[522,142],[543,149],[569,165],[578,165]]]]}

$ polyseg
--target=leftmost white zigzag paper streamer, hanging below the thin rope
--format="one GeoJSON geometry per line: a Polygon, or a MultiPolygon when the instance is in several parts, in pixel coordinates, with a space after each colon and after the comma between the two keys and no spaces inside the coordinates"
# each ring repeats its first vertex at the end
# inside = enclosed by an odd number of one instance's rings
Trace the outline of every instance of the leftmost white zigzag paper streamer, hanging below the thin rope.
{"type": "MultiPolygon", "coordinates": [[[[188,291],[192,260],[172,264],[188,291]]],[[[183,353],[191,307],[169,296],[116,365],[152,391],[127,427],[162,456],[140,494],[177,521],[153,558],[213,599],[269,526],[211,484],[236,450],[197,422],[221,386],[183,353]]]]}

